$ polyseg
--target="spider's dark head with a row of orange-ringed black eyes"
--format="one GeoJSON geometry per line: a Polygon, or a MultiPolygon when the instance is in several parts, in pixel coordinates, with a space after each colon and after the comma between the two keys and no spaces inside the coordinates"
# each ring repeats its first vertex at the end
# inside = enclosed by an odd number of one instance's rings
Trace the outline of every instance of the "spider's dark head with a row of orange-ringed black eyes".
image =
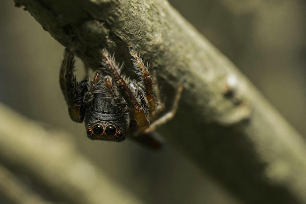
{"type": "Polygon", "coordinates": [[[92,140],[121,142],[129,129],[130,114],[108,114],[88,111],[85,118],[86,134],[92,140]]]}

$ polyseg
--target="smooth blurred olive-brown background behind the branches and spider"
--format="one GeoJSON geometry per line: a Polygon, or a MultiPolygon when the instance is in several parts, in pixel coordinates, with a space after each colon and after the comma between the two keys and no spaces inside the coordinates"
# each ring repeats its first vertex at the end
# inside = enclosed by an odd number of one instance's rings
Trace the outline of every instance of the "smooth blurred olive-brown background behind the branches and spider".
{"type": "MultiPolygon", "coordinates": [[[[306,136],[304,0],[170,3],[306,136]]],[[[13,0],[1,0],[0,8],[1,103],[46,128],[69,133],[68,139],[75,141],[97,168],[144,203],[239,203],[171,145],[152,152],[129,140],[118,144],[87,139],[84,124],[70,120],[60,91],[58,74],[64,47],[27,11],[14,7],[13,0]]],[[[82,68],[81,63],[77,66],[82,68]]],[[[0,197],[0,204],[8,203],[0,197]]]]}

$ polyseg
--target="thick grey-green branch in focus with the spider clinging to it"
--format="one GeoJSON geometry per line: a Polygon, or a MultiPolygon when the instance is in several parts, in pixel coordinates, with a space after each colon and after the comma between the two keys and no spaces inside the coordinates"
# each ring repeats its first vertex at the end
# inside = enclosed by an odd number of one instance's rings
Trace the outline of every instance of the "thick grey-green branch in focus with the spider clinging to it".
{"type": "Polygon", "coordinates": [[[160,132],[242,201],[306,203],[305,141],[166,1],[15,2],[62,45],[75,42],[91,68],[104,46],[131,69],[134,45],[166,90],[184,80],[178,113],[160,132]]]}

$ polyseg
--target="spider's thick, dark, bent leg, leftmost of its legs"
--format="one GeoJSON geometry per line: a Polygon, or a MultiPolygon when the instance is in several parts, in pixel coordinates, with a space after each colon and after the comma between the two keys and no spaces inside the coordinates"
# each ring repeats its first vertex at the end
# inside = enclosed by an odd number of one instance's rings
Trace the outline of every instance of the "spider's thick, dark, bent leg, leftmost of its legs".
{"type": "Polygon", "coordinates": [[[77,82],[73,73],[75,69],[74,55],[73,49],[65,49],[59,78],[61,90],[65,97],[71,120],[82,122],[86,111],[83,104],[83,98],[87,91],[87,80],[83,80],[80,83],[77,82]]]}

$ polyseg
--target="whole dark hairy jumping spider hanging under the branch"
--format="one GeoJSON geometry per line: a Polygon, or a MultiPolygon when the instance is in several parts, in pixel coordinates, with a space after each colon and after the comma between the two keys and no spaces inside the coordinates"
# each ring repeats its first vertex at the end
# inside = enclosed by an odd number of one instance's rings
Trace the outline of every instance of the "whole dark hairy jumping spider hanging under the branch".
{"type": "Polygon", "coordinates": [[[115,62],[114,55],[102,49],[102,63],[92,81],[77,82],[75,49],[65,49],[60,71],[61,89],[70,118],[80,123],[84,120],[89,139],[120,142],[129,130],[131,136],[149,133],[175,114],[182,85],[177,89],[172,110],[157,117],[164,111],[164,104],[159,97],[156,70],[151,75],[132,45],[129,51],[138,81],[126,77],[122,73],[123,66],[115,62]]]}

